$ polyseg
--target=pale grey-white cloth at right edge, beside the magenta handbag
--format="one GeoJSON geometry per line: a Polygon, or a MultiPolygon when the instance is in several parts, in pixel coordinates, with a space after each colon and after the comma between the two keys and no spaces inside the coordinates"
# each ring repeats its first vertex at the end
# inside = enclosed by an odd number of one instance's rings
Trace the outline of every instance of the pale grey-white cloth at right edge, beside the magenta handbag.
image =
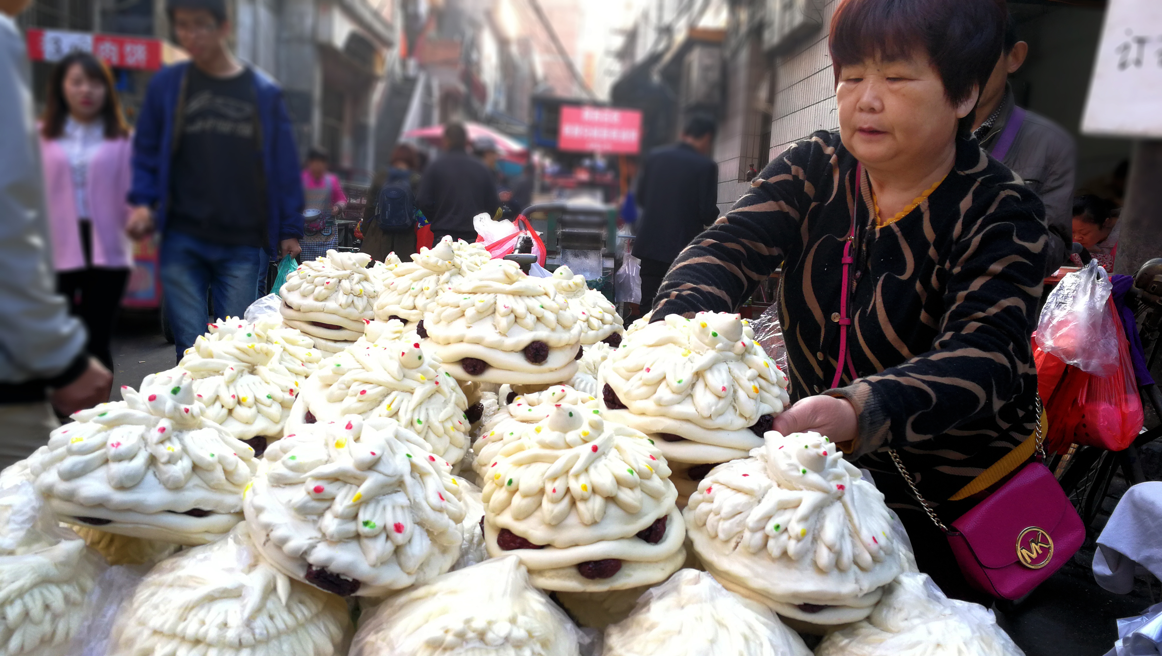
{"type": "Polygon", "coordinates": [[[1134,565],[1162,578],[1162,482],[1139,483],[1113,509],[1097,539],[1093,578],[1110,592],[1134,589],[1134,565]]]}

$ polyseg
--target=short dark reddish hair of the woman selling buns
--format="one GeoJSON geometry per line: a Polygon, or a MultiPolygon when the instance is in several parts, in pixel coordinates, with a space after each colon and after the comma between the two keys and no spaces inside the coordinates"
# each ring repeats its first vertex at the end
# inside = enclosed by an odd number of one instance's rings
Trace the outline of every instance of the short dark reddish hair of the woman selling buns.
{"type": "MultiPolygon", "coordinates": [[[[920,52],[940,73],[948,101],[960,104],[989,81],[1007,17],[1003,0],[840,0],[827,38],[835,84],[846,65],[920,52]]],[[[973,114],[966,118],[971,125],[973,114]]]]}

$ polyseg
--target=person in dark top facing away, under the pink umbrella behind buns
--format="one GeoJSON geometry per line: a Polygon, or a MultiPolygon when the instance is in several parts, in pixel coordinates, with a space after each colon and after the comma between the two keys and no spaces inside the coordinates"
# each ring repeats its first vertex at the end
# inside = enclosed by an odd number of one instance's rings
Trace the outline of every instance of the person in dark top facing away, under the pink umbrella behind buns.
{"type": "Polygon", "coordinates": [[[472,217],[493,216],[501,201],[492,174],[467,152],[468,134],[462,123],[444,125],[444,154],[423,172],[416,207],[431,222],[432,238],[445,235],[465,242],[476,240],[472,217]]]}

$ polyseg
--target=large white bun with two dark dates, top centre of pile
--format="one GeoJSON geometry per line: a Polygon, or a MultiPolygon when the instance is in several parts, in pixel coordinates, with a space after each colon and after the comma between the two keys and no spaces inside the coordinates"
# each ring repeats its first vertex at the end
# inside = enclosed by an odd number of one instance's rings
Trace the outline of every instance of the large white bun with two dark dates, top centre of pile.
{"type": "Polygon", "coordinates": [[[581,322],[555,284],[490,260],[444,291],[424,326],[462,381],[552,384],[576,372],[581,322]]]}

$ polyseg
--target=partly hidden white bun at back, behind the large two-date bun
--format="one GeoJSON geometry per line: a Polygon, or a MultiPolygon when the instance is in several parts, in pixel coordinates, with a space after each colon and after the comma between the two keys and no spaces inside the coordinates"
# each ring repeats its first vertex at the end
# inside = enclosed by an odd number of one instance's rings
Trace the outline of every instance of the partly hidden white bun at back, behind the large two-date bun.
{"type": "MultiPolygon", "coordinates": [[[[424,312],[435,307],[439,294],[451,289],[466,273],[480,268],[483,262],[473,257],[476,248],[471,253],[458,252],[453,244],[452,237],[445,236],[433,247],[413,253],[410,262],[400,264],[399,258],[385,262],[380,279],[383,290],[375,300],[375,318],[381,322],[401,319],[407,322],[408,329],[415,330],[424,312]]],[[[485,251],[486,257],[487,253],[485,251]]]]}

